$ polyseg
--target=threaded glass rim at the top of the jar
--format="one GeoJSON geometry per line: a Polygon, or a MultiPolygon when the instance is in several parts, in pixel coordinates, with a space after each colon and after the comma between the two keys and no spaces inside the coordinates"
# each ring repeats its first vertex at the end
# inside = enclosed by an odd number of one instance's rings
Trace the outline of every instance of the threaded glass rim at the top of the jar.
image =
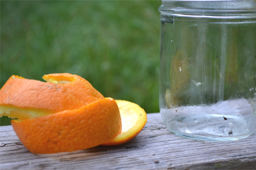
{"type": "Polygon", "coordinates": [[[159,12],[177,17],[256,19],[256,0],[162,0],[159,12]]]}

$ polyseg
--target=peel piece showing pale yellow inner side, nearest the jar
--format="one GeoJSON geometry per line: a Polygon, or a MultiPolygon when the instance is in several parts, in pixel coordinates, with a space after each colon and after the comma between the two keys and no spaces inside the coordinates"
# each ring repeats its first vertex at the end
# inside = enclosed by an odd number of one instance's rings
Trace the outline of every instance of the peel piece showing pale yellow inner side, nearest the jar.
{"type": "Polygon", "coordinates": [[[132,140],[147,123],[146,112],[137,104],[116,100],[122,119],[122,133],[101,145],[121,145],[132,140]]]}

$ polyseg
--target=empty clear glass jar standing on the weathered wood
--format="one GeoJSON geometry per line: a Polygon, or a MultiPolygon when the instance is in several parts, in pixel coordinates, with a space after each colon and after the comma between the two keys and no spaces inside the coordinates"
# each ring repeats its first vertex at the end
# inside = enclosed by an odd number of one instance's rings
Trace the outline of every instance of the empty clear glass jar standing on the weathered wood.
{"type": "Polygon", "coordinates": [[[171,132],[238,140],[256,129],[256,1],[163,0],[160,113],[171,132]]]}

